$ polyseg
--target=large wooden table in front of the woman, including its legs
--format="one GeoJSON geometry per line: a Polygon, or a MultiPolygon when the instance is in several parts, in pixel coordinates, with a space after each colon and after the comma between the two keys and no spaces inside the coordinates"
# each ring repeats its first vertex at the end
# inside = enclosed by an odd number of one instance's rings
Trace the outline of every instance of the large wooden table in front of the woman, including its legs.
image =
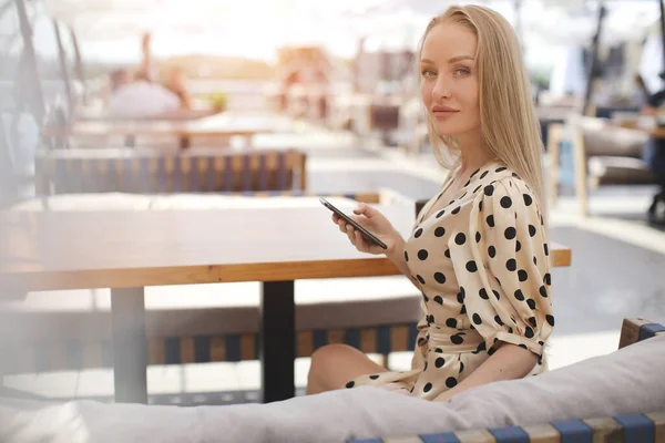
{"type": "MultiPolygon", "coordinates": [[[[340,207],[344,210],[344,207],[340,207]]],[[[378,206],[402,234],[415,215],[378,206]]],[[[262,281],[266,402],[294,395],[294,280],[398,274],[356,251],[323,207],[175,212],[7,212],[0,216],[4,290],[111,288],[115,399],[147,401],[145,286],[262,281]]],[[[554,266],[570,249],[552,245],[554,266]]]]}

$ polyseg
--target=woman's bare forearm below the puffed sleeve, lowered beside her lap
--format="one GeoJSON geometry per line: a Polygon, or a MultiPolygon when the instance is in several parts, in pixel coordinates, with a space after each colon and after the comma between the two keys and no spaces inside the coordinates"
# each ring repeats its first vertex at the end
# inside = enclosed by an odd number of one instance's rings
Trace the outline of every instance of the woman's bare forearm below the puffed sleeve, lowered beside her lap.
{"type": "Polygon", "coordinates": [[[493,381],[521,379],[533,369],[536,362],[538,356],[533,352],[511,343],[503,343],[468,378],[437,396],[434,401],[448,401],[460,392],[493,381]]]}

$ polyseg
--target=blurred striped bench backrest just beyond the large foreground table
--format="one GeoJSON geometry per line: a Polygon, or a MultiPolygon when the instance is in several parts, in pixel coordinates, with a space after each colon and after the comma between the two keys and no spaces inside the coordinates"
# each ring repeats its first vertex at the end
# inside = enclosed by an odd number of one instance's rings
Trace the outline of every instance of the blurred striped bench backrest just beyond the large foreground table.
{"type": "Polygon", "coordinates": [[[306,154],[298,150],[86,148],[40,153],[39,195],[71,193],[234,193],[306,190],[306,154]]]}

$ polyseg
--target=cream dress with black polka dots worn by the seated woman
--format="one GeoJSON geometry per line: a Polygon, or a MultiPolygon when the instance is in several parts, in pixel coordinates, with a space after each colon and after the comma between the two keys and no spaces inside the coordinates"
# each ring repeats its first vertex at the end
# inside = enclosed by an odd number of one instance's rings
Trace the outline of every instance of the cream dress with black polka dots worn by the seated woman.
{"type": "Polygon", "coordinates": [[[405,246],[422,291],[411,370],[358,377],[347,388],[398,383],[422,399],[453,388],[507,342],[539,356],[554,317],[543,218],[529,186],[498,161],[471,175],[443,209],[421,210],[405,246]],[[427,217],[426,217],[427,216],[427,217]]]}

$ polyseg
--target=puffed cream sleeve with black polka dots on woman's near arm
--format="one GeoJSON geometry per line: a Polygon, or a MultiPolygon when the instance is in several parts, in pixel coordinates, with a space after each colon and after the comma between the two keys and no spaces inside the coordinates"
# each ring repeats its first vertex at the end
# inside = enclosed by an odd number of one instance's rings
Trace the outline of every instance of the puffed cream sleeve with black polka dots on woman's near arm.
{"type": "Polygon", "coordinates": [[[550,254],[528,185],[515,177],[487,185],[473,202],[467,238],[451,256],[470,323],[490,353],[505,342],[542,357],[554,326],[550,254]]]}

